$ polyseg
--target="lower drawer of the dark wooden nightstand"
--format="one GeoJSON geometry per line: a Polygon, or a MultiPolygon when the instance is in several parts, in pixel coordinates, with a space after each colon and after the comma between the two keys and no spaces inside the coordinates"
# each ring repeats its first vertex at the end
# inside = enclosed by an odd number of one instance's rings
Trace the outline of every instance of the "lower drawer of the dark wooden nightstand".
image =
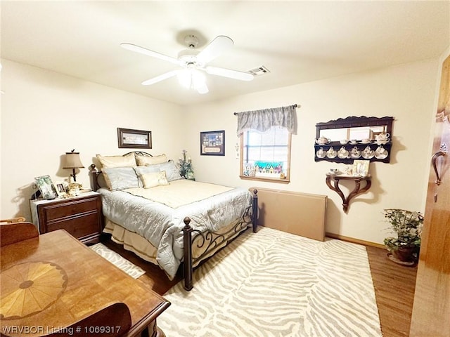
{"type": "Polygon", "coordinates": [[[75,218],[51,221],[46,225],[46,232],[53,230],[67,230],[72,236],[82,239],[92,234],[93,228],[98,227],[98,213],[88,213],[84,216],[76,216],[75,218]]]}

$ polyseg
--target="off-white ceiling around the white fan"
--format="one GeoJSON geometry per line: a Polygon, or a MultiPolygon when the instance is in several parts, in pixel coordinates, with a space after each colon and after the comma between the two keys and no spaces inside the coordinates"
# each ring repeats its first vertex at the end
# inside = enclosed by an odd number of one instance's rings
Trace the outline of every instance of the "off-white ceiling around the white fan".
{"type": "Polygon", "coordinates": [[[450,1],[1,1],[1,58],[188,105],[342,74],[436,58],[450,45],[450,1]],[[199,49],[217,35],[234,46],[210,65],[269,74],[245,82],[207,75],[210,92],[176,77],[186,34],[199,49]]]}

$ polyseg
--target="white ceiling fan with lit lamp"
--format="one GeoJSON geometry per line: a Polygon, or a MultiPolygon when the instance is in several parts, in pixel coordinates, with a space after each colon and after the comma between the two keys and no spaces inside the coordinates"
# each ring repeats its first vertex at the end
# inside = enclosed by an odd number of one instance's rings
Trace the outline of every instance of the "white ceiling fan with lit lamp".
{"type": "Polygon", "coordinates": [[[160,74],[157,77],[143,81],[144,86],[158,83],[168,79],[169,77],[178,77],[179,82],[186,88],[194,88],[198,93],[207,93],[208,88],[206,85],[206,78],[204,72],[207,74],[229,77],[230,79],[239,79],[240,81],[251,81],[253,75],[249,72],[240,72],[238,70],[231,70],[221,67],[212,67],[207,65],[208,62],[219,57],[222,53],[233,47],[233,40],[224,35],[219,35],[208,44],[203,51],[198,51],[195,47],[198,45],[198,38],[195,35],[187,35],[184,38],[188,48],[180,51],[178,58],[172,58],[156,51],[150,51],[147,48],[136,46],[135,44],[120,44],[125,49],[135,51],[144,55],[152,56],[153,58],[159,58],[172,62],[175,65],[179,65],[181,69],[171,70],[164,74],[160,74]]]}

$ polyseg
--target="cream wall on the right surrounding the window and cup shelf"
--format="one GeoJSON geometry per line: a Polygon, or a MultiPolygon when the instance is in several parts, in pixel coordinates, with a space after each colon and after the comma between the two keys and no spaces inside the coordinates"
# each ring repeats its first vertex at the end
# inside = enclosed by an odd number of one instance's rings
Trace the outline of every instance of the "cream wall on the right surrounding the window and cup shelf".
{"type": "Polygon", "coordinates": [[[226,185],[326,194],[327,232],[382,243],[388,236],[383,209],[425,209],[438,66],[437,60],[415,62],[189,107],[187,146],[193,151],[195,175],[226,185]],[[233,112],[295,103],[301,107],[297,109],[298,134],[293,136],[290,184],[240,180],[233,112]],[[371,163],[371,190],[353,199],[345,214],[340,197],[325,184],[328,169],[345,165],[315,162],[313,145],[316,123],[348,116],[392,116],[395,120],[390,164],[371,163]],[[226,131],[226,156],[200,157],[198,132],[221,129],[226,131]]]}

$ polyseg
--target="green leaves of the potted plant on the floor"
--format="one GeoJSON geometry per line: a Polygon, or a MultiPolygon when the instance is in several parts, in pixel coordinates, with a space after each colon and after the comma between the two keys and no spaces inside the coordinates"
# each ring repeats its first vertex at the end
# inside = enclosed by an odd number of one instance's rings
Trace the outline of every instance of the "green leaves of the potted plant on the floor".
{"type": "Polygon", "coordinates": [[[423,215],[420,212],[404,209],[385,209],[385,219],[391,224],[391,230],[396,237],[387,237],[384,244],[389,251],[399,247],[420,247],[420,237],[423,227],[423,215]]]}

